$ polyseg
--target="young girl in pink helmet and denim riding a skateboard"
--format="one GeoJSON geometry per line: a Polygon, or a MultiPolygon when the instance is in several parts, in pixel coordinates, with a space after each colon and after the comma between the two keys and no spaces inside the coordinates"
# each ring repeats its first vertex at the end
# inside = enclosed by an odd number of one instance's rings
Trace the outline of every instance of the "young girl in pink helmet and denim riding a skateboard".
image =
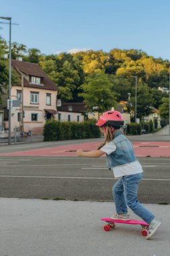
{"type": "Polygon", "coordinates": [[[124,118],[118,111],[107,111],[103,113],[96,125],[104,133],[105,140],[97,150],[83,152],[77,150],[77,156],[98,158],[103,154],[107,156],[108,169],[113,170],[114,177],[119,178],[112,189],[117,214],[112,219],[129,220],[128,207],[134,214],[140,216],[149,224],[146,239],[151,238],[161,222],[137,199],[138,184],[142,179],[142,166],[134,155],[134,150],[129,139],[120,131],[124,124],[124,118]],[[128,205],[128,207],[127,207],[128,205]]]}

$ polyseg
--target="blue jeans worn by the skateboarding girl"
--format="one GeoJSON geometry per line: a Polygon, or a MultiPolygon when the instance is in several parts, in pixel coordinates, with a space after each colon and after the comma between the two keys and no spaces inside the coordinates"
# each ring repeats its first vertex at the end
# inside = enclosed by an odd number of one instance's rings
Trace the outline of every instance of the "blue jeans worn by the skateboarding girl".
{"type": "Polygon", "coordinates": [[[155,216],[146,210],[137,199],[138,184],[141,179],[142,173],[123,176],[114,184],[112,193],[117,214],[127,213],[130,207],[134,214],[150,224],[155,216]]]}

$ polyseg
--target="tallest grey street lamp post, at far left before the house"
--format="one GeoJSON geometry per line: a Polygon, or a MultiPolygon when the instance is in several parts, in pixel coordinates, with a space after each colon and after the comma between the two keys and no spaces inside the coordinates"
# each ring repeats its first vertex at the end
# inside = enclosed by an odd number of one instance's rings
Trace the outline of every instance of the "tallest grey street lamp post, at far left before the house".
{"type": "Polygon", "coordinates": [[[11,17],[0,17],[3,20],[9,20],[9,88],[8,88],[8,100],[9,100],[9,133],[8,133],[8,144],[11,144],[11,17]]]}

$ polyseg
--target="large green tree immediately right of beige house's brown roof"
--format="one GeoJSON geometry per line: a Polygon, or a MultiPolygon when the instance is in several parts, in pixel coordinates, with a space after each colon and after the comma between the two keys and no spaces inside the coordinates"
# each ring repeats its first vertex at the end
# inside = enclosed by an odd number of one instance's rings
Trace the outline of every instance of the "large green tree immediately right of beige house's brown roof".
{"type": "Polygon", "coordinates": [[[81,61],[75,55],[61,53],[50,55],[40,61],[40,65],[59,88],[58,97],[62,102],[80,102],[79,86],[84,82],[81,61]]]}

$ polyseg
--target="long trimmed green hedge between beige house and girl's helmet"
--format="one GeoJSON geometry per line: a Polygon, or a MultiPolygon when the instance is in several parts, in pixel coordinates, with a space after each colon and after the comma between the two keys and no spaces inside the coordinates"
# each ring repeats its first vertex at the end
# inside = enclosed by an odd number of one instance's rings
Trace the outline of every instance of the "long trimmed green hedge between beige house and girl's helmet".
{"type": "Polygon", "coordinates": [[[54,119],[44,125],[44,141],[58,141],[69,139],[89,139],[100,137],[96,121],[60,122],[54,119]]]}

